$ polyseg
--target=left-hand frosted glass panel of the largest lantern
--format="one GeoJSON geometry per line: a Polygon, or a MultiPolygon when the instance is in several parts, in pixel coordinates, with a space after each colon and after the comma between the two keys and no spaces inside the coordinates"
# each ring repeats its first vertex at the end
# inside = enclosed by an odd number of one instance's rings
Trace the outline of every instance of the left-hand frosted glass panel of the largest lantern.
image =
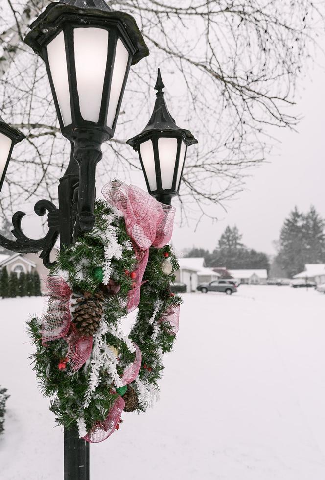
{"type": "Polygon", "coordinates": [[[47,56],[49,68],[59,102],[62,120],[65,126],[72,123],[68,68],[64,33],[60,32],[48,45],[47,56]]]}

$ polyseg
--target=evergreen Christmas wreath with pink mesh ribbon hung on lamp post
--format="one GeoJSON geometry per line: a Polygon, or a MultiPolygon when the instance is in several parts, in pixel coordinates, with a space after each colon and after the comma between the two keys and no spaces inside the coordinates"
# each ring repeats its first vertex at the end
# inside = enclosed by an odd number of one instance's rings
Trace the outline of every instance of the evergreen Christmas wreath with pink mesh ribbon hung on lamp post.
{"type": "Polygon", "coordinates": [[[168,245],[174,209],[121,182],[103,194],[95,228],[61,249],[46,311],[29,321],[34,370],[50,410],[89,442],[118,430],[122,411],[153,405],[181,304],[170,291],[178,269],[168,245]],[[126,336],[120,322],[137,307],[126,336]]]}

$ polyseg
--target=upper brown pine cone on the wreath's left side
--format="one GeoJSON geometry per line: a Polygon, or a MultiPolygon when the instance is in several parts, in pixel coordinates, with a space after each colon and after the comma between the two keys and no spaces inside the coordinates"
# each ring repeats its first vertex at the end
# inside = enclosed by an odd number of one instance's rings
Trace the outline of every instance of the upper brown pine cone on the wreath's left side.
{"type": "Polygon", "coordinates": [[[94,335],[100,325],[103,315],[104,296],[102,292],[95,293],[93,296],[89,292],[85,292],[80,297],[73,296],[76,303],[72,312],[73,322],[75,323],[80,334],[83,336],[94,335]]]}

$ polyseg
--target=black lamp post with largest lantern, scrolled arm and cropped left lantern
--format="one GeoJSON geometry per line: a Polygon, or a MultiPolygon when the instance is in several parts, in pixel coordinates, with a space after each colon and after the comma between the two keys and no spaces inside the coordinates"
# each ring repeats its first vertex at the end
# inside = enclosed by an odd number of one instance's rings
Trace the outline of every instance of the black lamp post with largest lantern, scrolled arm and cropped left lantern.
{"type": "MultiPolygon", "coordinates": [[[[101,144],[114,135],[132,64],[149,54],[130,15],[111,11],[104,0],[62,0],[50,3],[31,25],[25,42],[45,61],[62,134],[70,140],[68,168],[60,179],[59,208],[40,200],[35,212],[48,212],[48,232],[42,239],[23,234],[25,215],[16,212],[16,240],[0,235],[0,245],[21,253],[40,253],[49,267],[50,252],[60,235],[61,247],[72,244],[94,224],[95,172],[101,144]]],[[[23,135],[0,120],[0,179],[15,143],[23,135]],[[11,141],[11,143],[10,143],[11,141]]],[[[65,429],[64,479],[89,480],[89,443],[76,426],[65,429]]]]}

